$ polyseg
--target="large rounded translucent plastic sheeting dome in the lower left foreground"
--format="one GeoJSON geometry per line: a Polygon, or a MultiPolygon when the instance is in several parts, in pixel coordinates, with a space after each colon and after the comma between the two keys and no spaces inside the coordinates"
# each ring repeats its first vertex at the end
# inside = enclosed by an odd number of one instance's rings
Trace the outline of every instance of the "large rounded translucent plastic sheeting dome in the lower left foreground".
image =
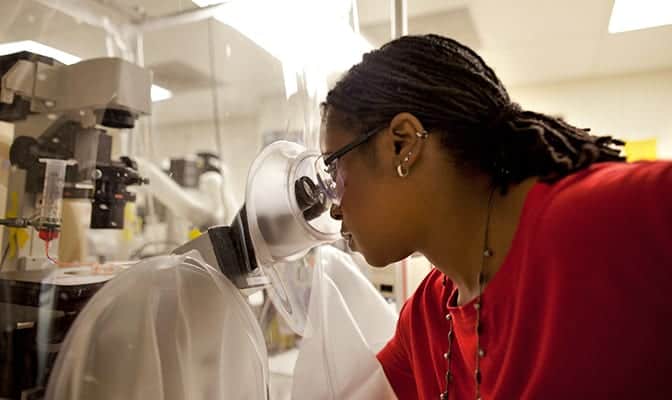
{"type": "Polygon", "coordinates": [[[70,329],[47,399],[266,399],[261,330],[235,286],[194,253],[145,260],[70,329]]]}

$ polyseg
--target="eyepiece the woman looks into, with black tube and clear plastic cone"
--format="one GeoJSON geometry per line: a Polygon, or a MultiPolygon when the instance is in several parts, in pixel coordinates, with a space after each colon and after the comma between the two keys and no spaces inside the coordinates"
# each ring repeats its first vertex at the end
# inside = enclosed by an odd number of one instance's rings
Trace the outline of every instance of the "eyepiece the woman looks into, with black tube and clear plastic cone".
{"type": "Polygon", "coordinates": [[[340,223],[329,215],[330,203],[316,182],[319,153],[277,141],[261,151],[250,168],[245,205],[229,226],[215,226],[175,249],[197,250],[239,289],[267,287],[278,311],[301,333],[305,303],[283,281],[291,268],[283,263],[338,239],[340,223]],[[270,286],[269,286],[270,285],[270,286]]]}

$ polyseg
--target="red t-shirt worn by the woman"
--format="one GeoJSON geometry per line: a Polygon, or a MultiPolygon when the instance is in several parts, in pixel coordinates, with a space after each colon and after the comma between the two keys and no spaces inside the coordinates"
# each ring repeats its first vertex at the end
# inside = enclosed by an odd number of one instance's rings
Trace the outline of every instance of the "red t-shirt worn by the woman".
{"type": "MultiPolygon", "coordinates": [[[[446,240],[450,240],[446,237],[446,240]]],[[[434,269],[378,354],[399,399],[475,398],[473,302],[434,269]],[[450,303],[454,304],[454,303],[450,303]]],[[[672,163],[601,163],[527,195],[482,297],[481,395],[672,399],[672,163]]]]}

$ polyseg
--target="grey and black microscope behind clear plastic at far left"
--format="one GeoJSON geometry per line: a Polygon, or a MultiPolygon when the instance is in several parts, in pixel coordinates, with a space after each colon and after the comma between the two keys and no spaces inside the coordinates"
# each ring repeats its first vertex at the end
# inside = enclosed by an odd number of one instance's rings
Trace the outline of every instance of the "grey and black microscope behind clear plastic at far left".
{"type": "MultiPolygon", "coordinates": [[[[126,187],[144,180],[131,160],[111,159],[111,136],[100,127],[132,128],[149,114],[151,73],[117,58],[63,65],[21,52],[0,57],[0,76],[0,120],[13,123],[15,131],[11,217],[30,219],[37,213],[45,176],[40,158],[74,160],[66,170],[64,197],[93,200],[92,228],[122,228],[124,206],[134,201],[126,187]]],[[[44,265],[40,239],[28,233],[25,243],[4,235],[4,271],[44,265]]]]}

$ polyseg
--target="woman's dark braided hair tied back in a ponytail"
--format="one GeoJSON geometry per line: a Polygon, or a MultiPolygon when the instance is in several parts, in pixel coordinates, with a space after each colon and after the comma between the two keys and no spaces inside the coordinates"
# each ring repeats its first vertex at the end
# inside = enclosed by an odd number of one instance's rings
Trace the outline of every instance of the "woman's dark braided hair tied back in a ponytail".
{"type": "Polygon", "coordinates": [[[512,103],[473,50],[438,35],[404,36],[364,56],[329,91],[329,119],[364,133],[415,115],[463,165],[503,192],[537,176],[553,181],[592,163],[622,161],[623,142],[512,103]]]}

